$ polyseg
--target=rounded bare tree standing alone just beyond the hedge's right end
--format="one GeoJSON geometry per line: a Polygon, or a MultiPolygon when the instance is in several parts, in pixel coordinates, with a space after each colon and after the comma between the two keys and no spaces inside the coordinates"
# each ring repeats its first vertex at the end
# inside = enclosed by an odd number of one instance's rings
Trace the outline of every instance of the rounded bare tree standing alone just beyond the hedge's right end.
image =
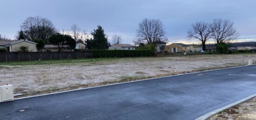
{"type": "Polygon", "coordinates": [[[155,44],[155,41],[168,41],[165,28],[159,19],[143,19],[136,30],[135,44],[155,44]]]}

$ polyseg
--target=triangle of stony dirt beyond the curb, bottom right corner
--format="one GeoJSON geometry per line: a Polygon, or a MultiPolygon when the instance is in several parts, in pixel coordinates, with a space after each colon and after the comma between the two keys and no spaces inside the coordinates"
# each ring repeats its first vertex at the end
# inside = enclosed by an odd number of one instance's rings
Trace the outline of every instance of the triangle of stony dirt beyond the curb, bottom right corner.
{"type": "Polygon", "coordinates": [[[208,120],[256,120],[256,97],[216,114],[208,120]]]}

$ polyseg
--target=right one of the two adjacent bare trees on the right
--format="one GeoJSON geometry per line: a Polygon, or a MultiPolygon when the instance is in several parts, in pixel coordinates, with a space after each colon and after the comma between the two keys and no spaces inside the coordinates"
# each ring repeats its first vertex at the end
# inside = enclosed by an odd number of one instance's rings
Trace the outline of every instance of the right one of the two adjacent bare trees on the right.
{"type": "Polygon", "coordinates": [[[228,19],[214,19],[211,31],[212,38],[216,40],[217,44],[229,43],[238,38],[238,32],[236,32],[236,28],[234,28],[234,22],[228,19]]]}

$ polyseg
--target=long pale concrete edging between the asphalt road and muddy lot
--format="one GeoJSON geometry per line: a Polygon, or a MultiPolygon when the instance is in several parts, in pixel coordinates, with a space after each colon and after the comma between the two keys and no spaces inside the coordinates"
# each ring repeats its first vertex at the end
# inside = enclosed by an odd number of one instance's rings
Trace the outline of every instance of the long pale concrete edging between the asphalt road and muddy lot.
{"type": "MultiPolygon", "coordinates": [[[[222,68],[222,69],[233,69],[233,68],[240,68],[240,67],[247,67],[247,66],[254,66],[254,65],[256,65],[256,64],[236,66],[236,67],[230,67],[230,68],[222,68]]],[[[205,70],[205,71],[199,71],[199,72],[191,72],[191,73],[178,74],[178,75],[172,75],[172,76],[182,76],[182,75],[189,75],[189,74],[195,74],[195,73],[216,71],[216,70],[222,70],[222,69],[211,69],[211,70],[205,70]]],[[[78,90],[84,90],[84,89],[90,89],[90,88],[99,88],[99,87],[105,87],[105,86],[111,86],[111,85],[117,85],[117,84],[124,84],[124,83],[130,83],[130,82],[140,82],[140,81],[153,80],[153,79],[158,79],[158,78],[166,78],[166,77],[172,77],[172,76],[162,76],[162,77],[142,79],[142,80],[137,80],[137,81],[129,81],[129,82],[120,82],[120,83],[108,84],[108,85],[101,85],[101,86],[95,86],[95,87],[89,87],[89,88],[72,89],[72,90],[61,91],[61,92],[54,92],[54,93],[48,93],[48,94],[42,94],[42,95],[33,95],[33,96],[27,96],[27,97],[20,97],[20,98],[15,98],[14,100],[20,100],[20,99],[26,99],[26,98],[32,98],[32,97],[39,97],[39,96],[44,96],[44,95],[54,95],[54,94],[59,94],[59,93],[66,93],[66,92],[72,92],[72,91],[78,91],[78,90]]]]}

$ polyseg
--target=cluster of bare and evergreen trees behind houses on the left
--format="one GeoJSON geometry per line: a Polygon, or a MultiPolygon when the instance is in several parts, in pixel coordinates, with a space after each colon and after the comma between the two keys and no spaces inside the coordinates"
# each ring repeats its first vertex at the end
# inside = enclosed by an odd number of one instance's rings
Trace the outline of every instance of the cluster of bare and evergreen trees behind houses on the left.
{"type": "MultiPolygon", "coordinates": [[[[39,16],[25,19],[16,38],[38,43],[39,51],[44,48],[45,44],[57,45],[59,51],[67,48],[74,49],[78,42],[86,44],[88,49],[105,50],[110,46],[108,36],[101,25],[98,25],[97,29],[90,34],[86,30],[81,32],[76,24],[72,25],[69,30],[58,31],[49,19],[39,16]]],[[[115,34],[111,44],[120,44],[121,40],[121,36],[115,34]]]]}

